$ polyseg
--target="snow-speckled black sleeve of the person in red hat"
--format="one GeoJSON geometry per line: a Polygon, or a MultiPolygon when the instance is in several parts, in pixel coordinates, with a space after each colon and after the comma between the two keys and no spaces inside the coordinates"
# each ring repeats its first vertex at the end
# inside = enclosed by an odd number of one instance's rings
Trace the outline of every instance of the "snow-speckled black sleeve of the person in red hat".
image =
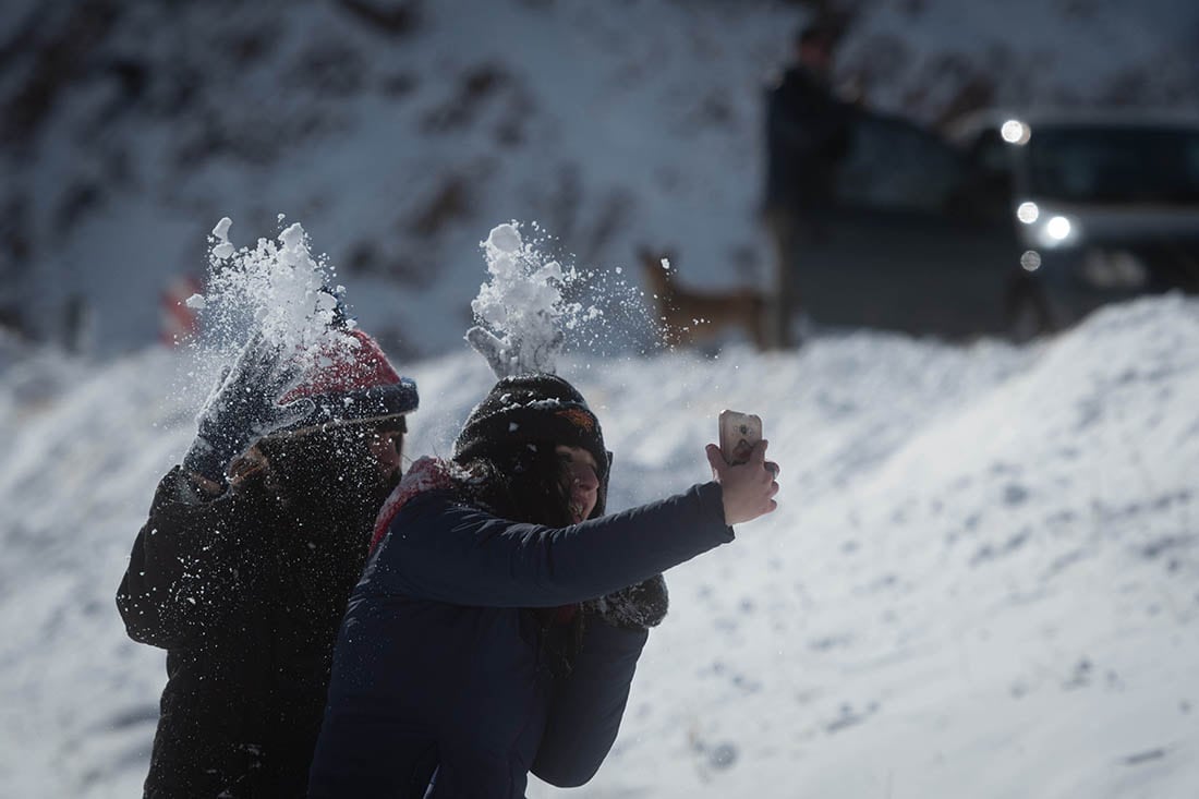
{"type": "Polygon", "coordinates": [[[180,467],[162,479],[150,517],[129,553],[116,607],[134,641],[175,649],[203,643],[245,600],[235,528],[241,500],[231,492],[189,499],[180,467]]]}

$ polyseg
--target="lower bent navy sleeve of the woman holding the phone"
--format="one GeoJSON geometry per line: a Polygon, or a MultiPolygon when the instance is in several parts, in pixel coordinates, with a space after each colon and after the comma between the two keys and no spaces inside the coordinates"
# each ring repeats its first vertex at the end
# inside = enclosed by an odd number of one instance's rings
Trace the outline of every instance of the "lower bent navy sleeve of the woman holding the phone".
{"type": "Polygon", "coordinates": [[[590,618],[573,668],[559,678],[532,773],[560,788],[588,782],[608,757],[649,632],[590,618]]]}

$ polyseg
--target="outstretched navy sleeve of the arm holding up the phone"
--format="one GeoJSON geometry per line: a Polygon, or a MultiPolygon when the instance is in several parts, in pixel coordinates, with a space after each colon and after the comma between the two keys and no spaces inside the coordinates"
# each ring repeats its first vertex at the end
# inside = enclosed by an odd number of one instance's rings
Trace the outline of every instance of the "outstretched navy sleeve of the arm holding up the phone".
{"type": "Polygon", "coordinates": [[[438,492],[397,513],[360,589],[451,605],[554,607],[639,583],[731,540],[716,482],[565,528],[511,522],[438,492]]]}

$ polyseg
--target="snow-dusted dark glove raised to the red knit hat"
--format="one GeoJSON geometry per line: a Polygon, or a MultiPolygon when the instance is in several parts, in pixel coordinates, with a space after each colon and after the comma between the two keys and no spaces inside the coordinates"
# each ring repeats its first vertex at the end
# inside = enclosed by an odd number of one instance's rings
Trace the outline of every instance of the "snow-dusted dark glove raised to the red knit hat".
{"type": "Polygon", "coordinates": [[[195,417],[197,435],[183,456],[185,469],[223,486],[229,463],[251,444],[315,410],[308,398],[278,404],[301,371],[282,360],[282,347],[261,336],[249,340],[195,417]]]}

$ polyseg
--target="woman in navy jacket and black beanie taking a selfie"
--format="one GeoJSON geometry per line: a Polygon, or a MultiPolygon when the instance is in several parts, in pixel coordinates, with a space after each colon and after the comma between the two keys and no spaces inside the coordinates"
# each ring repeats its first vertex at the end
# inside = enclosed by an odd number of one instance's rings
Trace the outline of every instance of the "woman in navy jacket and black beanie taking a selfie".
{"type": "Polygon", "coordinates": [[[778,491],[749,464],[604,515],[610,457],[566,380],[507,377],[451,462],[412,464],[379,515],[333,657],[309,797],[523,797],[585,783],[616,738],[661,572],[733,540],[778,491]]]}

